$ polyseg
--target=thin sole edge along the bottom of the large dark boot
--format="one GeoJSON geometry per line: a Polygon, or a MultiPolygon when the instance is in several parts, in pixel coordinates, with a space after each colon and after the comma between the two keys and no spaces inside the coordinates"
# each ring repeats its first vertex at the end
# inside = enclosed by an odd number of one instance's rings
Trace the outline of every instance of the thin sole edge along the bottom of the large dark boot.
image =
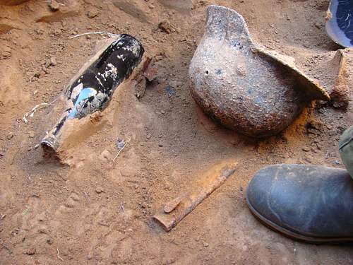
{"type": "Polygon", "coordinates": [[[261,223],[263,223],[268,228],[274,230],[275,232],[280,232],[282,235],[289,237],[293,240],[298,240],[301,242],[313,243],[313,244],[323,244],[323,243],[338,243],[338,242],[352,242],[353,237],[309,237],[306,235],[300,235],[296,232],[292,232],[285,228],[280,227],[280,225],[276,225],[275,223],[271,222],[267,218],[263,217],[258,211],[251,206],[248,196],[246,195],[246,203],[249,206],[251,213],[255,216],[261,223]]]}

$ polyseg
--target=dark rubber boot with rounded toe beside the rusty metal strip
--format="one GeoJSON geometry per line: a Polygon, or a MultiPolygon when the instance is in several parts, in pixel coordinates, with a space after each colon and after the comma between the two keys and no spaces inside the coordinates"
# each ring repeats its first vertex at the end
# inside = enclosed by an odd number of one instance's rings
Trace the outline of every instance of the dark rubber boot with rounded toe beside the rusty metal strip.
{"type": "Polygon", "coordinates": [[[353,179],[346,170],[264,167],[251,179],[246,201],[261,222],[296,240],[353,241],[353,179]]]}

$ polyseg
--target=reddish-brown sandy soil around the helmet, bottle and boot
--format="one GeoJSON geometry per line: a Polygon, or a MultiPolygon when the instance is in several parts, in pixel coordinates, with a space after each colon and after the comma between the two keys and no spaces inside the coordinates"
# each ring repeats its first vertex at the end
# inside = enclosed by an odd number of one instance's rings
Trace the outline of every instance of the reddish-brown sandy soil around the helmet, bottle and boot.
{"type": "Polygon", "coordinates": [[[339,47],[325,34],[328,1],[58,2],[56,12],[44,0],[0,6],[0,264],[353,264],[352,245],[289,240],[258,223],[245,202],[249,179],[265,165],[342,167],[337,140],[352,124],[352,107],[313,105],[279,136],[255,141],[211,122],[188,86],[205,7],[220,4],[244,16],[256,42],[294,57],[330,90],[339,47]],[[158,28],[163,20],[172,32],[158,28]],[[90,57],[102,36],[68,37],[91,31],[138,37],[158,75],[140,100],[121,86],[109,122],[85,134],[70,151],[71,165],[61,165],[35,148],[56,122],[52,107],[28,124],[21,119],[57,98],[90,57]],[[117,138],[129,143],[112,163],[117,138]],[[152,220],[229,159],[237,172],[177,228],[164,232],[152,220]]]}

